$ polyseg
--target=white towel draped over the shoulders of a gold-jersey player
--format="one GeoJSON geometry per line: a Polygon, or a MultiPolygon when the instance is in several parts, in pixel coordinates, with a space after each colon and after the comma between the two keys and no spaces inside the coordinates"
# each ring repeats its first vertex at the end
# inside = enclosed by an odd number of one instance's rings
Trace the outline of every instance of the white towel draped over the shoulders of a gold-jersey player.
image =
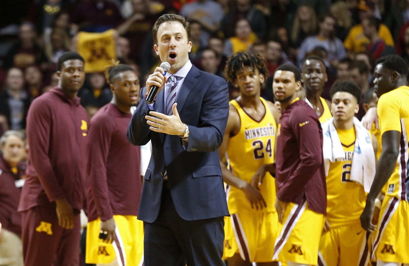
{"type": "MultiPolygon", "coordinates": [[[[375,152],[371,142],[371,133],[362,126],[361,122],[354,117],[356,132],[355,149],[352,157],[350,180],[364,186],[365,192],[369,192],[375,177],[375,152]]],[[[330,162],[344,161],[345,152],[339,140],[334,126],[334,118],[322,125],[323,155],[325,172],[328,175],[330,162]]]]}

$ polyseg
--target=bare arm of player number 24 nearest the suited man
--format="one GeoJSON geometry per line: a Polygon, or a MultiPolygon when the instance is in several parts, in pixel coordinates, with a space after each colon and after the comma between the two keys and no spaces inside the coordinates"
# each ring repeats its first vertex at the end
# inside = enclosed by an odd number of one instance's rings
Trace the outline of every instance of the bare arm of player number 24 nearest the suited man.
{"type": "Polygon", "coordinates": [[[234,106],[229,106],[229,118],[227,119],[226,131],[223,137],[223,142],[219,147],[219,158],[220,158],[220,167],[222,169],[223,181],[227,185],[231,185],[243,191],[247,200],[250,202],[252,208],[256,210],[261,210],[263,207],[267,207],[265,200],[261,193],[253,187],[251,184],[247,183],[243,179],[238,178],[233,174],[232,171],[227,169],[227,159],[226,151],[229,146],[229,139],[231,135],[237,134],[240,130],[240,117],[237,113],[237,110],[234,106]]]}

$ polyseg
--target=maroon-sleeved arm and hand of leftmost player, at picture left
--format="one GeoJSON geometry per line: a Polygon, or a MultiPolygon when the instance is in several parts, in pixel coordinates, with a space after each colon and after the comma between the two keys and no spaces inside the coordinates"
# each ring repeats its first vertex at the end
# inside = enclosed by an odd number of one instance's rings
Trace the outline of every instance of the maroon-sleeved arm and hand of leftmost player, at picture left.
{"type": "Polygon", "coordinates": [[[50,106],[43,101],[34,101],[31,104],[27,115],[27,142],[30,153],[35,154],[35,156],[30,156],[30,159],[36,169],[38,180],[48,200],[56,202],[58,225],[65,229],[72,229],[74,228],[74,210],[58,182],[48,154],[52,113],[50,106]]]}

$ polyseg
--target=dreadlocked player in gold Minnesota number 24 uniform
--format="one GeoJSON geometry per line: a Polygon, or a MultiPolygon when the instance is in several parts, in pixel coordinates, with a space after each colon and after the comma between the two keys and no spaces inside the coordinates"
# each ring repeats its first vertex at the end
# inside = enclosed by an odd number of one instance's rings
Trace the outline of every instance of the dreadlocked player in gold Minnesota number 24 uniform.
{"type": "Polygon", "coordinates": [[[274,162],[279,110],[260,97],[268,75],[258,53],[239,52],[229,57],[226,79],[240,91],[230,101],[229,119],[219,148],[230,217],[225,217],[224,258],[229,266],[278,265],[272,261],[278,217],[274,208],[275,180],[267,173],[262,183],[252,177],[274,162]],[[227,162],[227,167],[226,167],[227,162]]]}

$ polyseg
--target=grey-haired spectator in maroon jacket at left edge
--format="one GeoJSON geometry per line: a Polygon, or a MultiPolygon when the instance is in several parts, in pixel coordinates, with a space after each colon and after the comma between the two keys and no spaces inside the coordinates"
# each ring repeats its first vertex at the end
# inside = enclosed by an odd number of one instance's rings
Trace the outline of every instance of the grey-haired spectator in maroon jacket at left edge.
{"type": "Polygon", "coordinates": [[[0,265],[23,266],[21,214],[17,212],[24,173],[18,164],[25,157],[24,135],[6,131],[0,138],[0,265]]]}

